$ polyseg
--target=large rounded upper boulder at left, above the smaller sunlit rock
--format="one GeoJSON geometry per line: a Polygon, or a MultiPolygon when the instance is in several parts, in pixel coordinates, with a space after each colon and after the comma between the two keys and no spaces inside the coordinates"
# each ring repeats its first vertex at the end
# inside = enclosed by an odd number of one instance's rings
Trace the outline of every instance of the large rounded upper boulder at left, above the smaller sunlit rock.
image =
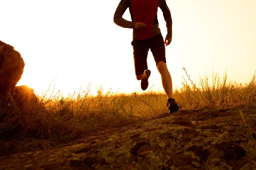
{"type": "Polygon", "coordinates": [[[23,74],[25,63],[13,46],[0,41],[0,96],[15,85],[23,74]]]}

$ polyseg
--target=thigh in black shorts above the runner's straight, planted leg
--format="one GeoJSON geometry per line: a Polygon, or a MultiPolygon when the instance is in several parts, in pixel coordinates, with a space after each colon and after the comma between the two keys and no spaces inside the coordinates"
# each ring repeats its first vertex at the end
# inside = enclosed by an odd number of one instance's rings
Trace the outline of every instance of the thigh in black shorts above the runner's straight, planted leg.
{"type": "Polygon", "coordinates": [[[165,44],[162,34],[157,34],[152,37],[150,44],[150,50],[154,56],[156,64],[160,61],[166,62],[165,44]]]}

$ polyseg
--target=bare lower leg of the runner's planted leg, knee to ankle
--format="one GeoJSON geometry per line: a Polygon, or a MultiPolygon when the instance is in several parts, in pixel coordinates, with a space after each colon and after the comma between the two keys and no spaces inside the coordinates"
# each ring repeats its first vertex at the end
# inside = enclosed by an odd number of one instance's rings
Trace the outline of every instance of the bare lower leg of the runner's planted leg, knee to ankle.
{"type": "Polygon", "coordinates": [[[163,61],[158,62],[157,69],[161,74],[163,89],[166,93],[167,99],[173,98],[172,77],[171,74],[169,73],[166,63],[163,61]]]}

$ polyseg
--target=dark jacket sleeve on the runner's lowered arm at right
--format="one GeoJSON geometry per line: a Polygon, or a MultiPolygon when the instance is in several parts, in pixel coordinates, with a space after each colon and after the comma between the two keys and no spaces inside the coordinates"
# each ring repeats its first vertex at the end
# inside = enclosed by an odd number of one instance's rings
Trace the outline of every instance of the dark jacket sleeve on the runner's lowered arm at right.
{"type": "Polygon", "coordinates": [[[166,4],[166,0],[159,0],[159,7],[163,11],[163,17],[166,21],[167,36],[172,38],[172,16],[171,12],[166,4]]]}

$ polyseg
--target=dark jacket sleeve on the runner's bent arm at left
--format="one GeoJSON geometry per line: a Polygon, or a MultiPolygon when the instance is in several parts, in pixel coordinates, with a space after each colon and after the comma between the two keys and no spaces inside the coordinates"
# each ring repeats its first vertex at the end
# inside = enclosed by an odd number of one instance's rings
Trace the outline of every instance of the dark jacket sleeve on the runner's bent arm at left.
{"type": "Polygon", "coordinates": [[[116,23],[116,25],[123,28],[134,28],[135,22],[127,21],[122,17],[126,9],[129,7],[131,7],[130,0],[121,0],[114,14],[114,23],[116,23]]]}

